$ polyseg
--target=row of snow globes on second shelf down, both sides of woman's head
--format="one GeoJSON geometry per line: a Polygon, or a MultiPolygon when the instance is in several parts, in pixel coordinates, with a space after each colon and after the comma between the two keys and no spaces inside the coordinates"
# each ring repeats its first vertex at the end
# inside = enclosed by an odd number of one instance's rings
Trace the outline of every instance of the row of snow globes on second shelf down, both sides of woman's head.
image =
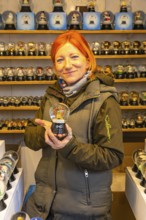
{"type": "MultiPolygon", "coordinates": [[[[47,56],[52,43],[45,42],[0,42],[0,56],[47,56]]],[[[146,40],[103,41],[89,43],[94,55],[146,54],[146,40]]]]}

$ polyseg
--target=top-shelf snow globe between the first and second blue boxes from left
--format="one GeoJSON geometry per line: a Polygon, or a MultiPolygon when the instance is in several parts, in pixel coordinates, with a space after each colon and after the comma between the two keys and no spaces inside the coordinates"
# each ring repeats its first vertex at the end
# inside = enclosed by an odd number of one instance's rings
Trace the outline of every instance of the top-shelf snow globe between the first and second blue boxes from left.
{"type": "Polygon", "coordinates": [[[46,11],[39,11],[36,14],[37,30],[48,30],[48,13],[46,11]]]}

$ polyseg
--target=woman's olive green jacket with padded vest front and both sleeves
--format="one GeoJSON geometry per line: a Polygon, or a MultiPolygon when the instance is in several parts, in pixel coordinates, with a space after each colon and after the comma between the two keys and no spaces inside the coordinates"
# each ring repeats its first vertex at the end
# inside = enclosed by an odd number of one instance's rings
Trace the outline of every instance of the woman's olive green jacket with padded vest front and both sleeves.
{"type": "MultiPolygon", "coordinates": [[[[103,82],[108,84],[100,75],[70,101],[67,123],[73,138],[63,149],[53,150],[45,143],[44,128],[34,120],[29,122],[25,143],[35,151],[42,149],[36,190],[25,207],[30,217],[46,219],[51,209],[64,216],[78,216],[75,219],[80,219],[79,214],[109,219],[111,170],[122,162],[123,142],[116,89],[103,82]]],[[[49,108],[60,101],[67,103],[57,84],[52,85],[36,118],[50,121],[49,108]]]]}

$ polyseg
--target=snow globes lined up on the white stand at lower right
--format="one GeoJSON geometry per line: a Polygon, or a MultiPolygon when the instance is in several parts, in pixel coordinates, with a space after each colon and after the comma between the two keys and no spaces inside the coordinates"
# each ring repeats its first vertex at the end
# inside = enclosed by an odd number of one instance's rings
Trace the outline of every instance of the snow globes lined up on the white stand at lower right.
{"type": "MultiPolygon", "coordinates": [[[[146,145],[146,140],[145,140],[146,145]]],[[[133,167],[132,170],[135,176],[140,180],[140,185],[144,187],[146,193],[146,151],[145,149],[137,149],[133,152],[133,167]]]]}

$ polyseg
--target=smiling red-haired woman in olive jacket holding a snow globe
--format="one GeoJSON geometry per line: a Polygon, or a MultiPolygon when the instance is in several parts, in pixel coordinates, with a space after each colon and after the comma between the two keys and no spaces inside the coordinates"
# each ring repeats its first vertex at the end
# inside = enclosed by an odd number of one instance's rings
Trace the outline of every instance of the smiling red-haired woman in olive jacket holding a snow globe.
{"type": "MultiPolygon", "coordinates": [[[[42,149],[36,189],[23,208],[43,220],[111,220],[112,169],[121,164],[121,111],[113,78],[96,67],[77,31],[59,35],[51,49],[57,82],[49,85],[25,130],[26,146],[42,149]],[[52,129],[49,110],[67,106],[65,132],[52,129]]],[[[62,110],[59,119],[62,119],[62,110]]],[[[63,121],[63,120],[61,120],[63,121]]],[[[58,121],[57,121],[58,122],[58,121]]]]}

